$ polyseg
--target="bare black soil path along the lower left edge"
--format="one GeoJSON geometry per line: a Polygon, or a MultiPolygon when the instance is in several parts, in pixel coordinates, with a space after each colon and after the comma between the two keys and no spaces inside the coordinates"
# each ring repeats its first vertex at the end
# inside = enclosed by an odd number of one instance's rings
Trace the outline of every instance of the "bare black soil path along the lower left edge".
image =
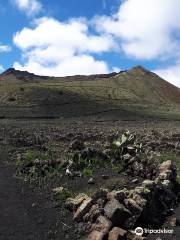
{"type": "Polygon", "coordinates": [[[50,230],[56,223],[56,209],[13,177],[13,169],[3,163],[7,157],[1,152],[0,240],[56,239],[50,230]]]}

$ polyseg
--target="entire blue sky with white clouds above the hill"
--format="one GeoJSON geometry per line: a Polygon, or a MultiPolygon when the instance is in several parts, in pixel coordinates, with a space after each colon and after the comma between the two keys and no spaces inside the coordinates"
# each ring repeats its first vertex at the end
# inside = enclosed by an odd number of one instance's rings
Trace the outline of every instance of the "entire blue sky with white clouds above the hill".
{"type": "Polygon", "coordinates": [[[1,0],[0,71],[107,73],[135,65],[180,87],[179,0],[1,0]]]}

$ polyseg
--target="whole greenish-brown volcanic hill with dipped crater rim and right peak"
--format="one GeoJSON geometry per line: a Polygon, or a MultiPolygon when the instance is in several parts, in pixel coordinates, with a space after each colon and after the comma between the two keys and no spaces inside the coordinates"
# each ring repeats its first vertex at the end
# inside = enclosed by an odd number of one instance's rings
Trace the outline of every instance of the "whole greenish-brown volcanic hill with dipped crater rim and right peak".
{"type": "Polygon", "coordinates": [[[0,118],[180,119],[180,90],[137,66],[119,73],[0,75],[0,118]]]}

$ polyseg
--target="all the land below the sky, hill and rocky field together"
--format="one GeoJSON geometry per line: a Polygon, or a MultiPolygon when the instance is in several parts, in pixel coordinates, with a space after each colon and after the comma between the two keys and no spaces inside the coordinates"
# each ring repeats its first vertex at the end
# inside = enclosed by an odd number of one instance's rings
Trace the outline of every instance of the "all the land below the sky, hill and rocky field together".
{"type": "Polygon", "coordinates": [[[142,67],[1,74],[0,239],[180,239],[179,102],[142,67]]]}

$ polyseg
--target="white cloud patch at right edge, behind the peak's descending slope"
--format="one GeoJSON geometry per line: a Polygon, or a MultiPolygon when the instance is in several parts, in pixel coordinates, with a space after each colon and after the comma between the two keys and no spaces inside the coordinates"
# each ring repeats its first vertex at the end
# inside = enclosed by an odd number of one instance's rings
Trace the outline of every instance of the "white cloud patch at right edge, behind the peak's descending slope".
{"type": "Polygon", "coordinates": [[[160,77],[173,85],[180,87],[180,63],[167,68],[155,69],[153,72],[157,73],[160,77]]]}

